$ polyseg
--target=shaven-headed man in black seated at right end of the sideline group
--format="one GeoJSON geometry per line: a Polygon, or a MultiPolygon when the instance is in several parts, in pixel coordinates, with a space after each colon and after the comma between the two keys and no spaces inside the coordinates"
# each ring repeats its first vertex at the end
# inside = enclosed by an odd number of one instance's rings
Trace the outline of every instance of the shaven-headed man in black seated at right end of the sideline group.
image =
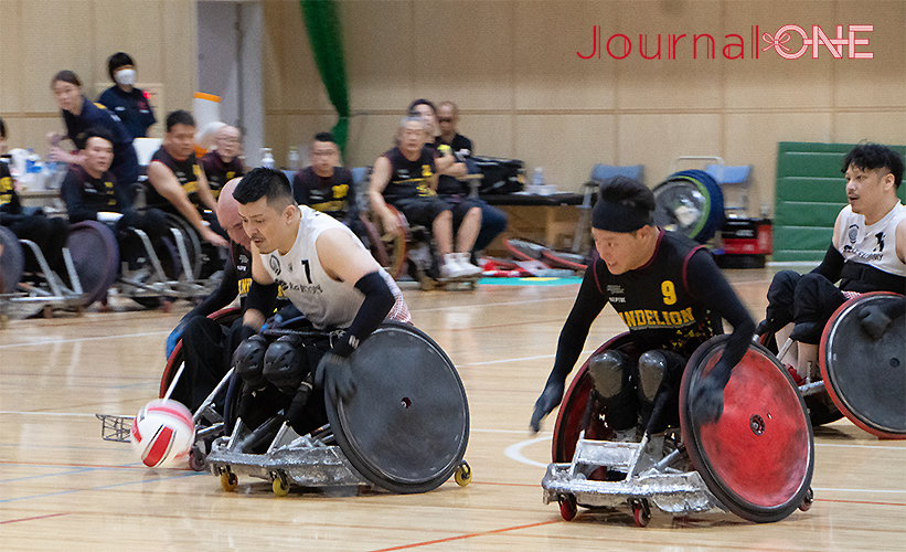
{"type": "MultiPolygon", "coordinates": [[[[441,102],[437,106],[437,123],[440,134],[437,136],[435,144],[438,148],[440,146],[448,146],[452,150],[454,157],[466,164],[466,172],[468,174],[478,173],[478,167],[471,164],[472,157],[472,141],[457,130],[459,125],[459,108],[452,102],[441,102]],[[471,166],[470,166],[471,164],[471,166]]],[[[469,195],[469,187],[460,180],[454,180],[440,177],[437,185],[437,194],[450,201],[448,197],[469,195]],[[447,180],[445,182],[445,180],[447,180]]],[[[483,251],[484,247],[493,242],[494,237],[507,230],[507,213],[491,206],[487,201],[471,198],[472,203],[481,208],[481,231],[475,241],[472,251],[483,251]]]]}

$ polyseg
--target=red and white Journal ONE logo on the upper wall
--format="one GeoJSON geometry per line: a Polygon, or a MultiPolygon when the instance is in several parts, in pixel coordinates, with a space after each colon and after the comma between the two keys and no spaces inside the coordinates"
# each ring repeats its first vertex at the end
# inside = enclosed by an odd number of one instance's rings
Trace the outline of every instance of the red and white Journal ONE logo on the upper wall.
{"type": "Polygon", "coordinates": [[[583,60],[626,60],[639,56],[643,60],[714,60],[718,55],[726,60],[759,60],[779,55],[786,60],[802,56],[814,60],[831,56],[838,60],[872,60],[868,51],[870,39],[865,33],[874,32],[874,25],[836,25],[825,32],[819,25],[784,25],[776,32],[764,32],[758,25],[743,34],[639,34],[622,33],[605,36],[600,25],[591,28],[591,45],[576,51],[583,60]]]}

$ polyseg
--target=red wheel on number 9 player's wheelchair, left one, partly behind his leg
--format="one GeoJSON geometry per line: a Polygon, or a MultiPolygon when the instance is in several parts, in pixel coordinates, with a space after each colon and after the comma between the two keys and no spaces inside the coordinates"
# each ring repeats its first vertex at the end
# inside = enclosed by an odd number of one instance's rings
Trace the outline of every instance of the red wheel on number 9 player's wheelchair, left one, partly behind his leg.
{"type": "MultiPolygon", "coordinates": [[[[557,421],[554,424],[554,438],[552,456],[555,463],[566,463],[573,459],[576,452],[576,443],[582,433],[582,424],[585,420],[586,408],[588,406],[588,399],[591,393],[594,383],[591,376],[588,374],[588,363],[591,358],[604,351],[621,351],[629,357],[638,360],[639,353],[636,351],[636,346],[629,336],[629,332],[620,333],[600,346],[594,353],[591,353],[585,363],[576,372],[573,382],[563,395],[563,402],[559,405],[557,413],[557,421]]],[[[610,436],[610,428],[606,427],[600,421],[600,410],[593,412],[589,418],[589,427],[586,428],[586,436],[588,438],[607,439],[610,436]]]]}

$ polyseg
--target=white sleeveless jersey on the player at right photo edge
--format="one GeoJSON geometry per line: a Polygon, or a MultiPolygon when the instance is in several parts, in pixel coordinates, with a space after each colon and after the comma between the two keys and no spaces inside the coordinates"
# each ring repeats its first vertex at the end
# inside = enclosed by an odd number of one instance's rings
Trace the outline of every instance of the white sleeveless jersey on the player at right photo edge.
{"type": "Polygon", "coordinates": [[[878,270],[906,276],[906,265],[896,256],[896,226],[906,219],[906,205],[897,203],[883,219],[865,225],[865,216],[843,208],[840,219],[840,253],[849,262],[871,265],[878,270]]]}

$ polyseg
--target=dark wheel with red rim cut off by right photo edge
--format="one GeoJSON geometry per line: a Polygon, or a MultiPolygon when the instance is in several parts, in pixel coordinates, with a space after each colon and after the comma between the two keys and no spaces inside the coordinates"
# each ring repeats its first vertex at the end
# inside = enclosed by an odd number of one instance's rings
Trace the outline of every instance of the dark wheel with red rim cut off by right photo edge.
{"type": "Polygon", "coordinates": [[[903,296],[871,293],[850,299],[821,336],[819,364],[831,400],[853,424],[883,438],[906,438],[906,321],[895,318],[878,340],[861,328],[859,312],[903,296]]]}

